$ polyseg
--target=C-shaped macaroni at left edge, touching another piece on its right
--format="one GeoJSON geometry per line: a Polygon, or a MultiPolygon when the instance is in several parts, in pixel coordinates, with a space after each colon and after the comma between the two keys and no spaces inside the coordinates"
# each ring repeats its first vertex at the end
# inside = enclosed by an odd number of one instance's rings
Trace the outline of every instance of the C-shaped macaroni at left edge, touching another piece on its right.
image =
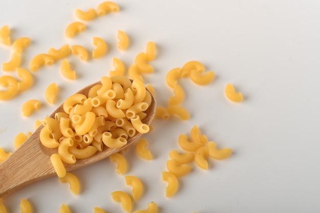
{"type": "Polygon", "coordinates": [[[12,76],[1,76],[0,85],[8,87],[5,91],[0,90],[0,100],[12,99],[18,93],[18,82],[12,76]]]}

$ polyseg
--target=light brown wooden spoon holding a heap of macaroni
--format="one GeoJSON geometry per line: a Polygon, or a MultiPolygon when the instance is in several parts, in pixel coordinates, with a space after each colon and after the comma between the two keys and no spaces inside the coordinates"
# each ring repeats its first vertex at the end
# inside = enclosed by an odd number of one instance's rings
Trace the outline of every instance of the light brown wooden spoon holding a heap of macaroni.
{"type": "MultiPolygon", "coordinates": [[[[77,93],[87,96],[90,88],[97,84],[101,84],[100,81],[84,87],[77,93]]],[[[156,109],[156,102],[152,94],[151,97],[152,102],[145,111],[147,116],[142,120],[148,126],[153,121],[156,109]]],[[[49,117],[54,118],[55,113],[61,111],[63,111],[63,103],[49,117]]],[[[40,125],[24,144],[0,164],[0,198],[32,182],[56,175],[50,156],[57,153],[58,148],[49,149],[40,143],[39,134],[42,128],[43,125],[40,125]]],[[[132,145],[141,135],[142,133],[138,132],[133,137],[129,137],[128,143],[122,148],[112,149],[104,146],[101,152],[96,152],[89,158],[77,159],[73,164],[64,163],[65,169],[72,171],[107,158],[132,145]]]]}

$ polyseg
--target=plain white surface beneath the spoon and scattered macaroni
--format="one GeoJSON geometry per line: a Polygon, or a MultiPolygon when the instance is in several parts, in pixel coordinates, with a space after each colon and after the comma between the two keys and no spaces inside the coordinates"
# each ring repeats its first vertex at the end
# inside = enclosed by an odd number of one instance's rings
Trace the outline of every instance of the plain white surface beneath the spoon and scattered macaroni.
{"type": "MultiPolygon", "coordinates": [[[[48,115],[63,99],[83,86],[107,75],[112,57],[128,67],[136,54],[152,40],[158,54],[151,62],[155,69],[145,75],[154,85],[158,105],[166,106],[172,96],[165,84],[166,73],[189,60],[199,60],[214,70],[215,81],[207,86],[180,81],[186,91],[186,107],[192,117],[156,121],[146,137],[154,160],[140,159],[132,147],[125,153],[129,162],[126,175],[141,178],[145,193],[133,202],[132,212],[156,202],[158,212],[319,212],[320,172],[320,2],[319,1],[125,1],[116,3],[119,13],[111,13],[87,23],[87,30],[74,39],[64,38],[64,29],[75,21],[73,10],[96,8],[101,1],[0,1],[0,26],[9,25],[12,40],[32,38],[24,52],[22,67],[38,53],[60,48],[65,43],[81,44],[92,51],[93,36],[104,38],[109,53],[97,60],[82,62],[70,56],[79,78],[67,81],[60,76],[59,63],[33,73],[34,86],[15,99],[0,102],[0,147],[14,151],[13,139],[21,131],[33,131],[36,119],[48,115]],[[125,52],[117,50],[117,30],[130,36],[125,52]],[[44,89],[56,82],[58,103],[45,102],[44,89]],[[232,103],[224,96],[231,82],[245,100],[232,103]],[[41,110],[28,118],[20,115],[21,104],[39,99],[41,110]],[[166,160],[179,149],[180,133],[189,134],[193,125],[220,148],[230,147],[226,160],[209,159],[203,171],[193,171],[179,179],[178,193],[165,198],[166,160]]],[[[0,46],[0,62],[10,58],[10,48],[0,46]]],[[[2,75],[13,75],[3,72],[2,75]]],[[[116,174],[116,164],[108,159],[74,171],[82,193],[73,196],[67,184],[56,177],[31,184],[2,201],[8,212],[18,212],[26,198],[34,212],[58,212],[62,203],[72,212],[124,212],[111,200],[117,190],[130,192],[124,177],[116,174]]],[[[0,174],[1,175],[1,174],[0,174]]]]}

